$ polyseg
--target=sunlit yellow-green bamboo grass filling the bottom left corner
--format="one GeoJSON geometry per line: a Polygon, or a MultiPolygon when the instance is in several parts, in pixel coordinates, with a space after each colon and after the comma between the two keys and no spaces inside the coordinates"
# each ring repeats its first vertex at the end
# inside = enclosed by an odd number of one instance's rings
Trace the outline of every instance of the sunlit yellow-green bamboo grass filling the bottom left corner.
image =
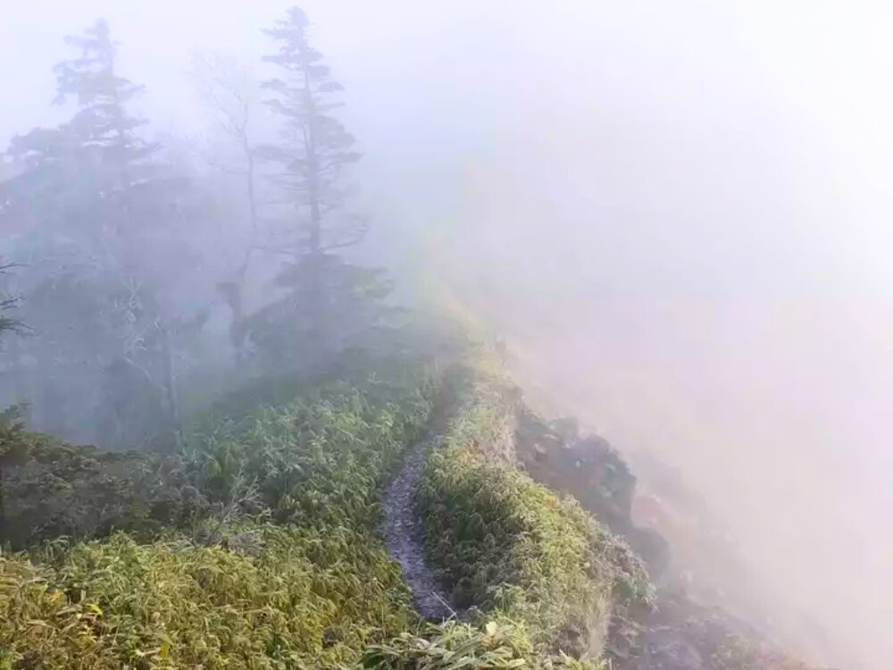
{"type": "Polygon", "coordinates": [[[229,545],[118,534],[0,558],[0,657],[8,667],[335,668],[413,622],[399,569],[362,533],[262,525],[229,545]]]}

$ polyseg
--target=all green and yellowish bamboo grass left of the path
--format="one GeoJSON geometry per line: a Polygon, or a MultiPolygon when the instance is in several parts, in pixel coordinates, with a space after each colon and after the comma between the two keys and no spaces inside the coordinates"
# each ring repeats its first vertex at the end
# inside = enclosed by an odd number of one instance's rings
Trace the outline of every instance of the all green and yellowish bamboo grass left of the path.
{"type": "Polygon", "coordinates": [[[0,558],[0,668],[340,668],[415,631],[378,527],[430,419],[416,372],[218,407],[165,461],[201,501],[178,528],[0,558]]]}

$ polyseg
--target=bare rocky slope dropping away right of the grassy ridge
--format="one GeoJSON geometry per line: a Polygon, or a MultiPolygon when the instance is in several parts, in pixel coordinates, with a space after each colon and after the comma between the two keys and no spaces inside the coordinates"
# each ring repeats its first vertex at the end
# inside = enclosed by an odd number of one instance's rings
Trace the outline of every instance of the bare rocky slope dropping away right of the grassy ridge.
{"type": "MultiPolygon", "coordinates": [[[[492,373],[492,352],[489,358],[477,376],[488,387],[489,404],[502,407],[500,434],[511,433],[510,440],[500,440],[497,453],[510,454],[513,464],[534,480],[578,500],[626,540],[655,581],[664,584],[656,592],[655,607],[616,607],[614,600],[606,644],[613,668],[805,670],[805,664],[775,647],[754,625],[722,607],[698,605],[678,580],[661,579],[671,548],[659,533],[633,523],[637,482],[622,457],[602,438],[580,435],[572,419],[547,421],[536,415],[511,381],[492,373]]],[[[486,447],[481,450],[487,452],[486,447]]]]}

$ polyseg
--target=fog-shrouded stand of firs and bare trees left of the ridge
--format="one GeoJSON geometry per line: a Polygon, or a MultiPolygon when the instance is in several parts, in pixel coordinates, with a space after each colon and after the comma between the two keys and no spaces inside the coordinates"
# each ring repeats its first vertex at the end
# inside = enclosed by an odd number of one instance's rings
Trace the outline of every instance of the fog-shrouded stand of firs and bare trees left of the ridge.
{"type": "Polygon", "coordinates": [[[265,33],[269,79],[193,63],[213,150],[150,141],[105,21],[65,38],[54,103],[70,118],[0,163],[0,407],[68,440],[146,445],[175,434],[184,394],[319,374],[384,341],[391,282],[346,255],[368,222],[342,88],[302,10],[265,33]]]}

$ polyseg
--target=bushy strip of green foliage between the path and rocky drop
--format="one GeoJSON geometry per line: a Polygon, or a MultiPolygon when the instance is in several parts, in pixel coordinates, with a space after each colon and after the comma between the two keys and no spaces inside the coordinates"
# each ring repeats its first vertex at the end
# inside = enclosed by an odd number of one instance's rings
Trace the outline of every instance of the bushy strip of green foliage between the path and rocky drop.
{"type": "Polygon", "coordinates": [[[526,625],[538,649],[597,657],[612,602],[650,602],[647,574],[576,502],[480,447],[505,414],[487,379],[472,380],[446,448],[430,456],[420,490],[430,556],[460,607],[526,625]]]}

